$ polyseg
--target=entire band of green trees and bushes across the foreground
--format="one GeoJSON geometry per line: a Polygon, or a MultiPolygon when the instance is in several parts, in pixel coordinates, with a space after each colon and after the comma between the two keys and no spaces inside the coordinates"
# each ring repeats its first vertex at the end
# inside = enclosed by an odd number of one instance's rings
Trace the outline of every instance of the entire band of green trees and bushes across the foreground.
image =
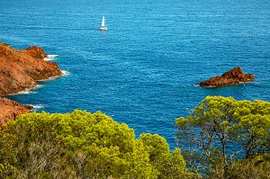
{"type": "Polygon", "coordinates": [[[0,130],[0,178],[270,178],[270,103],[208,96],[175,126],[182,154],[102,112],[24,114],[0,130]]]}

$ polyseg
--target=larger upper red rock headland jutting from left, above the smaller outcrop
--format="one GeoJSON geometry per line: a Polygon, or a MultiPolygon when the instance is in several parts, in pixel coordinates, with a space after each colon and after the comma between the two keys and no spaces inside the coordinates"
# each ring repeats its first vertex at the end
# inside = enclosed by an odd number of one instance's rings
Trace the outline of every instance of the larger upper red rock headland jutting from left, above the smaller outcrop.
{"type": "Polygon", "coordinates": [[[12,49],[0,43],[0,96],[21,92],[37,85],[36,80],[62,76],[56,62],[44,61],[43,49],[12,49]]]}

